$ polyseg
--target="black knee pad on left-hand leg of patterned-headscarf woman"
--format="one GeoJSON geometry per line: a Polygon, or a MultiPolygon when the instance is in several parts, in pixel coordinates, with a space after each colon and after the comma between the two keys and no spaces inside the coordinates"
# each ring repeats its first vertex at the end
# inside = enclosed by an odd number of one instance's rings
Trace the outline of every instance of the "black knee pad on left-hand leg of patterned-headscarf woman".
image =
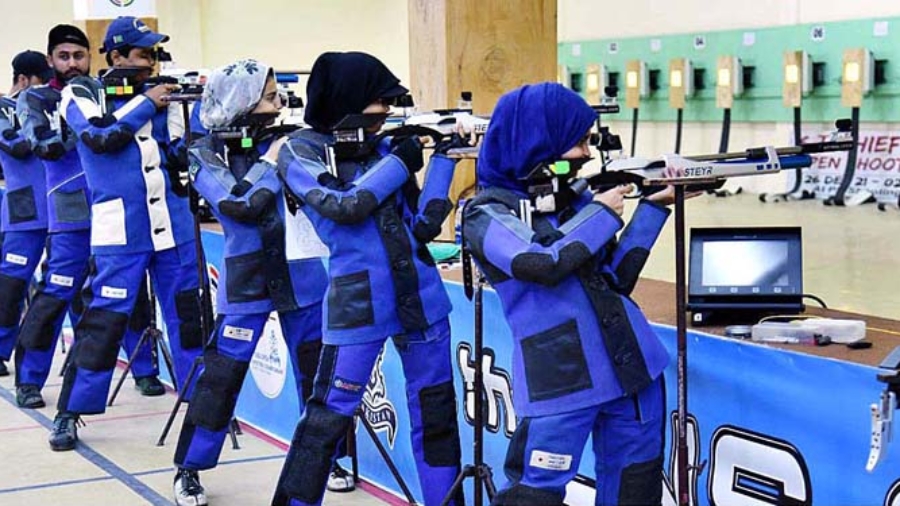
{"type": "Polygon", "coordinates": [[[187,416],[199,427],[220,431],[231,421],[250,365],[210,349],[203,354],[203,366],[203,374],[194,387],[187,416]]]}

